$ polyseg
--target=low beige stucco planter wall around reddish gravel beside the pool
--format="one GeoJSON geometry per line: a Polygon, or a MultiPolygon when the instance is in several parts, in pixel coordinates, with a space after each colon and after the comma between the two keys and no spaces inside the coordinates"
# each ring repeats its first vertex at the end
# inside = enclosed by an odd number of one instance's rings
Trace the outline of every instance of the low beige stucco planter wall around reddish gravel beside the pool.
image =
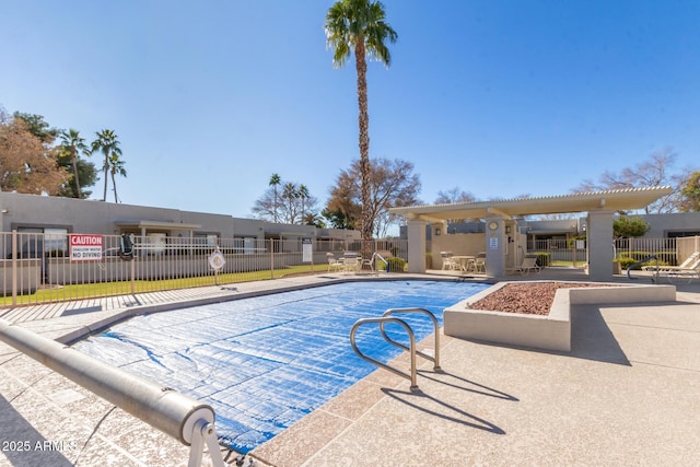
{"type": "Polygon", "coordinates": [[[444,311],[444,332],[472,339],[542,350],[571,350],[571,306],[576,304],[620,304],[673,302],[673,285],[630,285],[560,289],[548,316],[503,313],[468,307],[508,282],[498,283],[444,311]]]}

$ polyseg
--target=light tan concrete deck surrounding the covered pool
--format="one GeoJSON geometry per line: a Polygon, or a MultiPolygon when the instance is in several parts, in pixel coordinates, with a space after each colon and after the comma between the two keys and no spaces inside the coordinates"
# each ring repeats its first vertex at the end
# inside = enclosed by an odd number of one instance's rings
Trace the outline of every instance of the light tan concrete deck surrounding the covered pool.
{"type": "MultiPolygon", "coordinates": [[[[75,336],[125,313],[331,277],[347,279],[320,275],[139,295],[109,310],[96,303],[1,310],[0,318],[50,338],[75,336]]],[[[505,279],[585,280],[556,268],[505,279]]],[[[441,336],[444,372],[419,359],[420,393],[377,370],[250,455],[260,467],[698,464],[700,283],[677,288],[676,301],[663,304],[574,306],[568,353],[441,336]]],[[[404,355],[396,364],[407,362],[404,355]]],[[[0,420],[0,466],[187,464],[187,447],[3,343],[0,420]]]]}

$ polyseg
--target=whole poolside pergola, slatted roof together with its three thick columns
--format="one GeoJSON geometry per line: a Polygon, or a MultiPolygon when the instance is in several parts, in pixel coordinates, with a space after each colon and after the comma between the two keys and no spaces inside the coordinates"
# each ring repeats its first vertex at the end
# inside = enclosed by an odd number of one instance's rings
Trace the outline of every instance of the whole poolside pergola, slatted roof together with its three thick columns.
{"type": "Polygon", "coordinates": [[[450,219],[482,219],[489,229],[485,238],[487,275],[505,273],[503,240],[505,223],[538,214],[587,212],[588,275],[593,280],[612,277],[612,217],[616,212],[648,207],[673,192],[670,187],[630,188],[561,196],[516,198],[478,202],[455,202],[392,208],[408,224],[408,261],[411,272],[425,271],[425,223],[450,219]]]}

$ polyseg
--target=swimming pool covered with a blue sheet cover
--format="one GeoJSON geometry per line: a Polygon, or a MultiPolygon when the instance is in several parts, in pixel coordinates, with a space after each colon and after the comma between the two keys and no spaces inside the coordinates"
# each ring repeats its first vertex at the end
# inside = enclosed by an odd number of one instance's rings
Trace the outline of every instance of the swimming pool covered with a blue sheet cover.
{"type": "MultiPolygon", "coordinates": [[[[442,324],[443,308],[487,287],[346,282],[138,316],[74,348],[210,404],[221,441],[247,453],[376,369],[350,347],[358,319],[424,307],[442,324]]],[[[424,316],[400,317],[417,341],[433,331],[424,316]]],[[[372,327],[357,342],[384,362],[400,353],[372,327]]]]}

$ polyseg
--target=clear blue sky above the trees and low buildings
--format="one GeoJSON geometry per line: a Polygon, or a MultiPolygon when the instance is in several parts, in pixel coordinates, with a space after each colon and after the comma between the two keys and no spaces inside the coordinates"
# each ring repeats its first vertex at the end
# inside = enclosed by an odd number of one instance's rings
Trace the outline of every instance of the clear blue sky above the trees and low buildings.
{"type": "MultiPolygon", "coordinates": [[[[359,156],[331,4],[0,0],[0,105],[115,130],[126,203],[250,217],[278,173],[323,208],[359,156]]],[[[389,69],[369,66],[370,152],[412,162],[422,201],[563,195],[666,147],[698,166],[700,2],[384,5],[399,37],[389,69]]]]}

